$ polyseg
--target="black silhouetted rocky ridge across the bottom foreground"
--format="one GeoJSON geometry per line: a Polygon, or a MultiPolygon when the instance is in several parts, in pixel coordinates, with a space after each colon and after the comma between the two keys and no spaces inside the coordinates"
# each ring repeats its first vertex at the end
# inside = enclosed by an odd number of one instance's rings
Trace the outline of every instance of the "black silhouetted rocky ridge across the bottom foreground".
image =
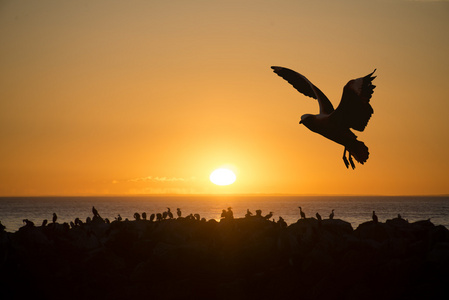
{"type": "Polygon", "coordinates": [[[429,220],[93,213],[2,228],[1,299],[449,299],[449,231],[429,220]]]}

